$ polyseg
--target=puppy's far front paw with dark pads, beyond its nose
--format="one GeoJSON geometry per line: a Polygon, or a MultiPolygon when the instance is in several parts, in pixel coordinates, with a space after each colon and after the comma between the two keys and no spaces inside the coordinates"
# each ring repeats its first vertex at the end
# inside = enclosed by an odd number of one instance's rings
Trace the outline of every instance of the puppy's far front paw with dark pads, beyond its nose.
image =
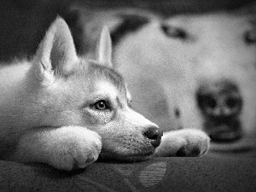
{"type": "Polygon", "coordinates": [[[210,138],[199,130],[181,130],[164,133],[156,156],[201,156],[207,153],[210,138]]]}

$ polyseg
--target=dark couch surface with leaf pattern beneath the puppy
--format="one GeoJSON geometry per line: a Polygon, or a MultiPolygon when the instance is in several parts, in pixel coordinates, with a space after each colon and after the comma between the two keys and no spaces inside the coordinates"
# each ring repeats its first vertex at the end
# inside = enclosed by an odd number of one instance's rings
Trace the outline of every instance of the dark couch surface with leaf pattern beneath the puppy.
{"type": "Polygon", "coordinates": [[[79,172],[0,161],[0,191],[256,191],[256,159],[206,155],[96,162],[79,172]]]}

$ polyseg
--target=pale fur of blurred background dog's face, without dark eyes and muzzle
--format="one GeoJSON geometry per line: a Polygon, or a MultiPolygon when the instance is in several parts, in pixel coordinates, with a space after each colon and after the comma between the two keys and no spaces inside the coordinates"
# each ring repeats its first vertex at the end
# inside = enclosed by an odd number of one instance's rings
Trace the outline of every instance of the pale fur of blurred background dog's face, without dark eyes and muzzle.
{"type": "MultiPolygon", "coordinates": [[[[123,11],[100,11],[94,19],[84,18],[85,37],[94,38],[89,31],[96,25],[101,28],[97,20],[104,20],[114,32],[121,23],[119,13],[123,11]]],[[[126,13],[150,20],[136,32],[126,34],[113,48],[113,63],[128,82],[133,108],[167,132],[180,127],[203,130],[196,89],[208,80],[231,79],[244,101],[240,116],[244,137],[236,143],[213,144],[212,149],[255,148],[256,47],[244,42],[247,31],[255,37],[255,23],[251,22],[255,22],[255,14],[212,13],[162,19],[141,10],[126,13]],[[166,37],[163,23],[183,29],[189,38],[166,37]],[[176,117],[177,109],[180,118],[176,117]]],[[[163,140],[167,143],[165,134],[163,140]]]]}

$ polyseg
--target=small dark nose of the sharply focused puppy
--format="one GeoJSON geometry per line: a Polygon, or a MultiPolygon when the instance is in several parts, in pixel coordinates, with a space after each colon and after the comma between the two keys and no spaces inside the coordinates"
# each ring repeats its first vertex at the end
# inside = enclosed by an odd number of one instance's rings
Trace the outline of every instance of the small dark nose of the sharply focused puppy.
{"type": "Polygon", "coordinates": [[[154,148],[158,147],[161,143],[161,137],[163,136],[163,131],[161,131],[158,127],[148,127],[148,129],[144,132],[144,136],[150,139],[151,144],[154,148]]]}

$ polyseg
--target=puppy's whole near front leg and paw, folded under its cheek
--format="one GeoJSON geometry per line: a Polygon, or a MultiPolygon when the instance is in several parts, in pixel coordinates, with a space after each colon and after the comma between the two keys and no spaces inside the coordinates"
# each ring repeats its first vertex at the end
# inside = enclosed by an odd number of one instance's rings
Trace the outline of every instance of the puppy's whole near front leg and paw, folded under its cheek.
{"type": "Polygon", "coordinates": [[[27,131],[20,137],[11,159],[47,163],[69,171],[97,160],[101,149],[101,137],[85,127],[41,128],[27,131]]]}

